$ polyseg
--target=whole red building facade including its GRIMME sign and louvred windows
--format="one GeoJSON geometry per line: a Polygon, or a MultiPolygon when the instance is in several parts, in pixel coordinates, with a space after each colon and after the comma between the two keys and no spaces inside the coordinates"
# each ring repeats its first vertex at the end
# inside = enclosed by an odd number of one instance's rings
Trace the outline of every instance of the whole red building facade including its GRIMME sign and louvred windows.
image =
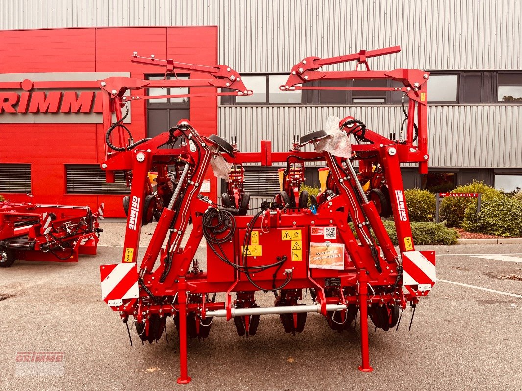
{"type": "MultiPolygon", "coordinates": [[[[123,217],[122,178],[106,185],[99,167],[105,160],[106,129],[97,80],[161,77],[160,68],[131,63],[133,52],[213,66],[217,40],[217,27],[0,31],[0,194],[13,201],[92,209],[104,202],[106,216],[123,217]]],[[[208,76],[192,72],[183,77],[208,76]]],[[[126,125],[139,140],[187,116],[202,135],[217,133],[217,98],[134,101],[126,125]]],[[[215,198],[217,181],[211,173],[207,179],[207,194],[215,198]]]]}

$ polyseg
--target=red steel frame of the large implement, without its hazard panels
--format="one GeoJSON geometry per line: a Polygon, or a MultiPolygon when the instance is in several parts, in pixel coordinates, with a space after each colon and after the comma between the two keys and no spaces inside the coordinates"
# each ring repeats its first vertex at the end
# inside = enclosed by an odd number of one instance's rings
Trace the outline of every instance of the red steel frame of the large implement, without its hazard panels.
{"type": "MultiPolygon", "coordinates": [[[[261,141],[261,152],[227,151],[221,142],[200,136],[189,121],[182,120],[179,126],[172,128],[169,132],[164,132],[135,148],[123,152],[111,151],[108,153],[108,160],[102,164],[102,168],[107,170],[108,173],[115,170],[132,172],[132,207],[127,218],[123,263],[137,262],[140,224],[136,222],[141,221],[144,213],[143,207],[140,205],[143,205],[143,199],[148,192],[147,173],[151,170],[161,173],[167,165],[176,165],[175,176],[179,186],[173,192],[169,206],[165,205],[162,210],[157,228],[151,237],[136,275],[136,280],[140,285],[139,297],[137,299],[124,298],[120,303],[110,304],[110,306],[113,310],[120,312],[125,323],[132,317],[136,327],[142,325],[140,326],[143,327],[141,334],[148,335],[149,341],[157,339],[158,330],[154,328],[158,328],[158,324],[164,327],[164,319],[167,316],[172,315],[175,318],[176,324],[179,325],[180,334],[181,374],[178,379],[179,383],[191,381],[191,377],[187,374],[186,338],[191,327],[188,325],[189,329],[187,330],[187,319],[191,319],[190,316],[195,317],[197,321],[196,329],[200,330],[202,326],[206,325],[206,323],[201,322],[206,322],[211,316],[226,316],[227,320],[234,317],[234,321],[238,316],[244,316],[244,326],[248,329],[248,323],[254,320],[253,315],[260,311],[254,303],[254,292],[260,290],[259,285],[267,286],[271,282],[271,277],[268,278],[266,273],[265,275],[263,273],[252,274],[250,278],[245,279],[243,271],[215,261],[215,257],[212,258],[213,255],[210,251],[208,251],[207,259],[208,272],[199,271],[197,265],[193,262],[199,243],[204,237],[204,231],[208,228],[204,223],[204,216],[210,211],[219,209],[219,205],[213,204],[210,200],[198,198],[210,162],[218,156],[222,156],[224,160],[231,164],[258,163],[263,166],[312,159],[324,161],[329,167],[331,182],[337,190],[337,194],[320,203],[316,211],[272,207],[259,212],[257,219],[254,219],[252,215],[233,216],[235,229],[233,231],[231,229],[230,242],[223,244],[223,253],[230,254],[232,262],[240,268],[246,266],[245,260],[248,259],[241,244],[242,240],[243,243],[245,243],[245,240],[248,243],[249,229],[251,230],[250,238],[252,237],[252,230],[265,233],[266,229],[268,229],[268,232],[273,230],[272,232],[275,232],[276,236],[284,230],[299,231],[299,235],[302,235],[302,242],[304,243],[302,260],[295,262],[283,257],[282,267],[273,272],[273,283],[279,286],[283,282],[288,282],[284,285],[284,289],[281,288],[278,292],[279,299],[276,302],[279,300],[279,304],[276,303],[274,309],[266,309],[263,313],[282,314],[283,311],[293,313],[295,325],[298,313],[312,312],[310,307],[313,306],[301,308],[296,305],[296,301],[302,296],[303,289],[315,291],[314,308],[316,308],[316,312],[327,317],[329,324],[334,321],[337,312],[340,312],[340,320],[346,322],[349,309],[355,308],[355,313],[359,309],[361,312],[362,349],[362,363],[359,369],[370,372],[372,367],[369,361],[367,335],[368,314],[373,316],[376,311],[381,311],[378,308],[384,308],[386,314],[389,314],[389,319],[391,319],[395,307],[404,310],[408,302],[412,306],[416,306],[419,297],[428,294],[434,281],[429,284],[428,288],[421,289],[420,285],[406,286],[406,290],[402,288],[402,261],[405,260],[405,257],[408,257],[408,253],[418,252],[415,252],[413,248],[399,165],[405,162],[419,162],[421,172],[424,173],[427,170],[426,80],[428,80],[429,75],[421,70],[410,69],[371,71],[366,62],[367,58],[396,53],[397,51],[399,51],[399,48],[394,47],[369,52],[361,51],[357,54],[327,59],[307,57],[292,68],[288,82],[281,86],[281,89],[312,88],[298,84],[320,79],[377,78],[391,79],[404,84],[404,88],[379,88],[378,90],[399,91],[408,95],[408,113],[410,116],[406,140],[393,141],[366,130],[364,138],[370,143],[352,145],[352,150],[355,153],[352,156],[353,160],[360,160],[362,162],[361,167],[364,168],[372,164],[379,164],[384,167],[383,177],[387,182],[390,194],[394,195],[390,197],[390,200],[399,238],[400,254],[397,253],[386,233],[374,202],[367,201],[361,193],[357,176],[349,170],[350,161],[328,152],[303,152],[299,148],[291,148],[289,152],[272,152],[269,141],[261,141]],[[352,60],[357,61],[358,66],[360,64],[365,65],[367,70],[342,72],[322,72],[319,70],[324,65],[352,60]],[[415,145],[413,141],[413,119],[416,117],[416,108],[418,145],[415,145]],[[183,138],[188,142],[182,143],[177,148],[159,148],[161,145],[172,144],[173,140],[177,138],[183,138]],[[227,153],[221,153],[223,149],[227,153]],[[372,152],[371,157],[365,157],[370,156],[368,152],[372,152]],[[182,246],[181,241],[189,221],[192,222],[193,228],[186,245],[182,246]],[[348,223],[350,221],[353,223],[357,238],[352,233],[348,223]],[[339,242],[346,249],[347,256],[343,270],[316,270],[309,267],[307,259],[307,256],[309,256],[309,236],[312,233],[310,229],[314,227],[334,227],[336,229],[339,242]],[[377,237],[379,245],[372,239],[370,227],[377,237]],[[165,238],[168,238],[168,246],[162,249],[165,238]],[[217,263],[219,267],[212,267],[214,263],[217,263]],[[192,270],[191,265],[193,265],[192,270]],[[339,286],[328,286],[326,281],[330,278],[338,280],[339,286]],[[226,299],[222,302],[209,301],[207,298],[212,292],[226,292],[226,299]],[[236,292],[237,300],[233,301],[231,292],[236,292]],[[295,306],[292,307],[295,311],[292,308],[288,310],[288,304],[295,306]],[[252,317],[249,318],[248,315],[252,315],[252,317]]],[[[149,61],[150,63],[156,61],[155,64],[159,64],[157,60],[150,59],[149,61]]],[[[196,68],[196,66],[189,68],[186,64],[172,62],[161,64],[167,67],[168,71],[197,69],[207,71],[210,75],[218,77],[218,80],[206,83],[207,86],[223,87],[223,85],[226,85],[226,88],[243,91],[242,93],[247,91],[244,85],[239,86],[239,84],[233,85],[231,83],[233,80],[226,76],[228,75],[226,72],[223,72],[223,69],[230,69],[228,67],[204,69],[203,67],[196,68]],[[229,84],[227,85],[227,83],[229,84]]],[[[236,81],[240,80],[239,74],[233,74],[233,76],[236,81]]],[[[107,127],[111,124],[110,113],[112,111],[116,113],[116,120],[122,118],[123,94],[128,89],[192,85],[191,80],[138,81],[136,79],[111,78],[103,82],[102,89],[105,91],[104,118],[107,127]]],[[[322,89],[337,88],[322,87],[322,89]]],[[[368,90],[367,88],[347,89],[368,90]]],[[[340,129],[350,133],[349,125],[341,125],[340,129]]],[[[303,132],[305,133],[306,130],[303,129],[303,132]]],[[[119,141],[121,145],[125,145],[123,131],[120,132],[119,141]]],[[[315,140],[312,140],[312,142],[315,143],[315,140]]],[[[266,233],[266,235],[269,234],[266,233]]],[[[278,255],[281,255],[279,248],[283,245],[283,241],[271,243],[270,246],[263,249],[263,258],[275,260],[278,255]]],[[[207,240],[207,249],[208,246],[207,240]]],[[[421,255],[434,265],[433,252],[422,252],[421,255]]],[[[248,262],[255,263],[256,261],[249,259],[248,262]]],[[[104,267],[102,266],[102,280],[109,278],[109,275],[103,272],[104,267]]],[[[272,271],[269,274],[271,276],[272,271]]],[[[283,319],[282,315],[281,319],[283,319]]],[[[372,320],[374,320],[373,317],[372,320]]],[[[162,330],[163,328],[159,331],[162,332],[162,330]]],[[[161,333],[159,334],[161,335],[161,333]]]]}

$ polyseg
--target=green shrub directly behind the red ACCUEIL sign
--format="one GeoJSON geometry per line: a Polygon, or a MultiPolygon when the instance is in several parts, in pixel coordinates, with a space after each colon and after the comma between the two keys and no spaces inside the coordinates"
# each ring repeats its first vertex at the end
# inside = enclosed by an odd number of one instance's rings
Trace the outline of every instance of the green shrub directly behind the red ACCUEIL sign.
{"type": "MultiPolygon", "coordinates": [[[[499,190],[484,185],[484,182],[473,181],[470,185],[457,186],[455,193],[482,193],[482,201],[506,198],[499,190]]],[[[474,200],[477,202],[476,200],[474,200]]],[[[440,216],[448,227],[462,227],[466,208],[473,202],[471,198],[446,197],[441,201],[440,216]]]]}

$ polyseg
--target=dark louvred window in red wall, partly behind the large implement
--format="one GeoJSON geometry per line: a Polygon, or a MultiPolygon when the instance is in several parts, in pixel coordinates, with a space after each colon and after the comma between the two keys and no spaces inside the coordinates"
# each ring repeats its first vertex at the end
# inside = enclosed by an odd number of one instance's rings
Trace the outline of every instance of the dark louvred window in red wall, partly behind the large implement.
{"type": "Polygon", "coordinates": [[[66,192],[80,194],[124,194],[131,190],[125,186],[122,171],[115,172],[115,182],[108,184],[105,171],[98,164],[66,164],[66,192]]]}

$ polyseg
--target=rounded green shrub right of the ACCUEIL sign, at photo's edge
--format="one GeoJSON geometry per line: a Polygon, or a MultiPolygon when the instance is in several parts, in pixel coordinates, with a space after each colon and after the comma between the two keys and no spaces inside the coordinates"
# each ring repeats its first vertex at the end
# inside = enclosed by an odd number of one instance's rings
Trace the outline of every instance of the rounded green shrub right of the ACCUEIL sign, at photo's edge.
{"type": "Polygon", "coordinates": [[[477,200],[466,208],[462,227],[488,235],[522,236],[522,202],[514,197],[484,201],[477,221],[477,200]]]}

